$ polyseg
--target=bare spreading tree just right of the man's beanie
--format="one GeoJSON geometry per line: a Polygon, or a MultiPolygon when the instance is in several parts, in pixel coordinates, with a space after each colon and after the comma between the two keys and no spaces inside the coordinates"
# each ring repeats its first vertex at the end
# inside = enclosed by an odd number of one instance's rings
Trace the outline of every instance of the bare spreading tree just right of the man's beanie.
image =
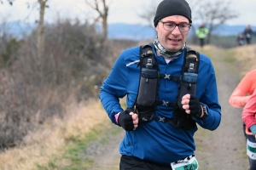
{"type": "Polygon", "coordinates": [[[230,8],[230,0],[201,1],[191,0],[194,20],[204,23],[209,29],[207,43],[211,42],[212,31],[226,23],[228,20],[237,17],[237,14],[230,8]]]}

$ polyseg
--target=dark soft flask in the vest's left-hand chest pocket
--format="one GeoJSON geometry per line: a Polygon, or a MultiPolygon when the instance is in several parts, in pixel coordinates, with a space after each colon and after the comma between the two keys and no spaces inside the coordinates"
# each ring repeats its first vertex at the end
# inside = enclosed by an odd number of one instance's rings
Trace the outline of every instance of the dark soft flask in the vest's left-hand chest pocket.
{"type": "Polygon", "coordinates": [[[158,71],[148,59],[146,68],[142,68],[140,86],[137,95],[137,105],[152,106],[158,93],[158,71]]]}

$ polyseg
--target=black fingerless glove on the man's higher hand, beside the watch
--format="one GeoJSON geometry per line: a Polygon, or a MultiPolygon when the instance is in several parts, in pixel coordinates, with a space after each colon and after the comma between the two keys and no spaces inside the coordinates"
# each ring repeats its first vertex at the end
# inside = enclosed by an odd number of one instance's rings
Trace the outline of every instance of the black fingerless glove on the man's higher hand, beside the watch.
{"type": "Polygon", "coordinates": [[[199,99],[195,95],[190,94],[189,110],[190,110],[191,116],[194,116],[195,118],[201,117],[201,114],[202,114],[201,104],[199,102],[199,99]]]}

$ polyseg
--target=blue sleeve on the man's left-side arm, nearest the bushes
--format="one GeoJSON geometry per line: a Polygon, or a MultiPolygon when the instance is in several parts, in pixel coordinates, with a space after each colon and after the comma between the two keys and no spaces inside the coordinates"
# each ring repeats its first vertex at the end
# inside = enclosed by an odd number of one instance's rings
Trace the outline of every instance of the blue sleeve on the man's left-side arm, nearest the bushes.
{"type": "Polygon", "coordinates": [[[127,68],[124,61],[124,53],[120,54],[115,61],[112,71],[110,71],[107,79],[103,82],[100,90],[99,98],[102,105],[107,111],[109,118],[115,124],[114,115],[123,111],[119,104],[119,98],[123,98],[126,94],[127,85],[127,68]]]}

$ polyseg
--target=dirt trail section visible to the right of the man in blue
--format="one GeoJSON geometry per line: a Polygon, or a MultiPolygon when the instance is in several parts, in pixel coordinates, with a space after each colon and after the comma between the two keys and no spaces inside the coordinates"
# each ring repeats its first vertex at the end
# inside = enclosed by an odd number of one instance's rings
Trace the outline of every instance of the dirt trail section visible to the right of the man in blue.
{"type": "Polygon", "coordinates": [[[195,155],[200,169],[247,170],[246,139],[242,131],[241,109],[229,104],[230,94],[239,82],[239,74],[232,72],[233,65],[224,62],[224,49],[212,52],[212,63],[218,78],[218,98],[222,106],[222,121],[217,130],[203,129],[203,138],[195,134],[197,150],[195,155]]]}

